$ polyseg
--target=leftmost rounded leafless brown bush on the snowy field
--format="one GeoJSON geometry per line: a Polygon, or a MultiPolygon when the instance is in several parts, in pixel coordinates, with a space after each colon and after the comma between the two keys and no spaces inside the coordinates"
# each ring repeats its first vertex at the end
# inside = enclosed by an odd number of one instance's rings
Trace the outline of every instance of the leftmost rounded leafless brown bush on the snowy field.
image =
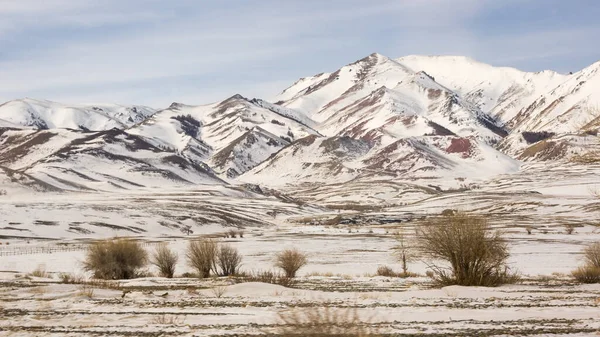
{"type": "Polygon", "coordinates": [[[108,239],[95,242],[87,250],[83,267],[104,280],[131,279],[146,266],[148,254],[133,240],[108,239]]]}

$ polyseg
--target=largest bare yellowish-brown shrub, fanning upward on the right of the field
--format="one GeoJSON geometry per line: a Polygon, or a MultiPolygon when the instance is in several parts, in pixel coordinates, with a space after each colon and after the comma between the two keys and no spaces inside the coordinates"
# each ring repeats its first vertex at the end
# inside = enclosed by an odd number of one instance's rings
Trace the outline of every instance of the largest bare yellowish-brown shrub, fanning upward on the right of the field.
{"type": "Polygon", "coordinates": [[[440,285],[498,286],[517,281],[507,266],[508,246],[500,232],[479,217],[459,213],[417,228],[417,241],[440,285]]]}

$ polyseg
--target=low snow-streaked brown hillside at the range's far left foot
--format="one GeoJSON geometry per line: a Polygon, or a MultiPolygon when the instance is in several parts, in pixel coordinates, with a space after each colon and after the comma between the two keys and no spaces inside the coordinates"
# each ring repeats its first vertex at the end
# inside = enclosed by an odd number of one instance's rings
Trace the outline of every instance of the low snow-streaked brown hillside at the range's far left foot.
{"type": "Polygon", "coordinates": [[[109,191],[224,184],[201,162],[119,129],[0,129],[0,168],[37,190],[109,191]]]}

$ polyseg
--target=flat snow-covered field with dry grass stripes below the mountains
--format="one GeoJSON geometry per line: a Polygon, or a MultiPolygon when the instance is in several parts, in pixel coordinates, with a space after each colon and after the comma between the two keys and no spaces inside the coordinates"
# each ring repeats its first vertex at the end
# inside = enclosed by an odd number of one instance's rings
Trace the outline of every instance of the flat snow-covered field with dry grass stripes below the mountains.
{"type": "MultiPolygon", "coordinates": [[[[534,165],[511,176],[510,184],[509,177],[497,177],[477,190],[409,194],[381,208],[340,211],[315,206],[327,199],[316,192],[298,193],[309,201],[299,206],[223,187],[5,197],[0,335],[284,336],[282,316],[290,311],[302,317],[304,311],[326,316],[327,310],[357,315],[371,331],[388,336],[594,335],[600,329],[600,285],[576,284],[569,273],[580,263],[582,247],[600,237],[598,202],[590,194],[595,175],[593,167],[534,165]],[[435,289],[418,259],[409,268],[422,276],[376,276],[380,265],[400,270],[392,253],[396,232],[410,242],[420,218],[446,208],[489,215],[506,232],[510,264],[522,282],[435,289]],[[338,215],[339,224],[325,223],[338,215]],[[566,234],[567,224],[576,226],[573,234],[566,234]],[[243,237],[224,238],[232,228],[242,229],[243,237]],[[180,256],[176,275],[191,271],[185,249],[199,236],[237,248],[244,271],[272,270],[275,254],[289,247],[306,252],[309,264],[287,288],[235,278],[61,282],[61,273],[85,276],[81,261],[90,239],[114,235],[138,237],[149,251],[167,242],[180,256]],[[27,276],[35,269],[48,277],[27,276]]],[[[381,184],[384,190],[390,186],[381,184]]]]}

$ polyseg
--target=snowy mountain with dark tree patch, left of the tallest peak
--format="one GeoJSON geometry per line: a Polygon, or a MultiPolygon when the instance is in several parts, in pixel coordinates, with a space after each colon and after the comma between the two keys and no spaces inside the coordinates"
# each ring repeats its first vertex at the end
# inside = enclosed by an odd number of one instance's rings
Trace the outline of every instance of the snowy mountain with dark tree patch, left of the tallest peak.
{"type": "Polygon", "coordinates": [[[235,95],[204,106],[172,104],[128,132],[234,178],[292,141],[318,134],[309,125],[315,122],[299,112],[235,95]]]}

